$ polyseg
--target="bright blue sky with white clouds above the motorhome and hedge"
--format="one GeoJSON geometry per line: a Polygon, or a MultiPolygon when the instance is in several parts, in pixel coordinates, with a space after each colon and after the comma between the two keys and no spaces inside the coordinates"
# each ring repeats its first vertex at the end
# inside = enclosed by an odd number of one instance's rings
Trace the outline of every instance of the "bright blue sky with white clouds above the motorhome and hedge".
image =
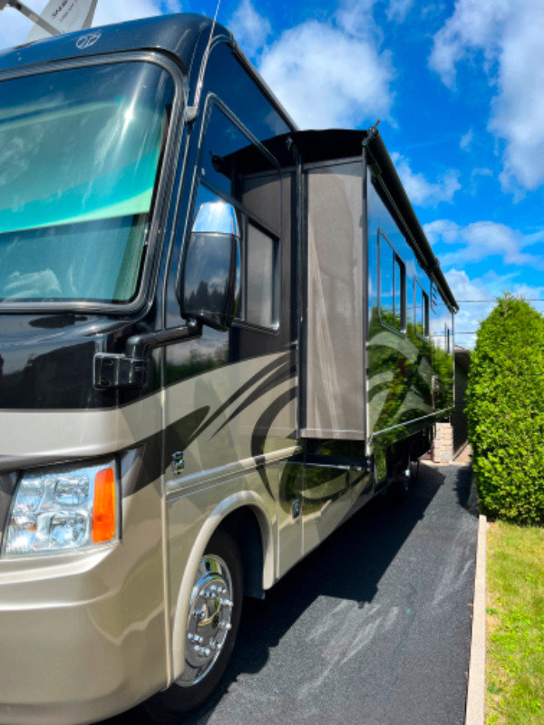
{"type": "MultiPolygon", "coordinates": [[[[215,6],[99,0],[94,24],[215,6]]],[[[458,344],[471,346],[465,333],[504,291],[544,312],[543,0],[221,0],[219,21],[301,128],[381,119],[461,302],[458,344]]],[[[6,9],[0,47],[30,28],[6,9]]]]}

